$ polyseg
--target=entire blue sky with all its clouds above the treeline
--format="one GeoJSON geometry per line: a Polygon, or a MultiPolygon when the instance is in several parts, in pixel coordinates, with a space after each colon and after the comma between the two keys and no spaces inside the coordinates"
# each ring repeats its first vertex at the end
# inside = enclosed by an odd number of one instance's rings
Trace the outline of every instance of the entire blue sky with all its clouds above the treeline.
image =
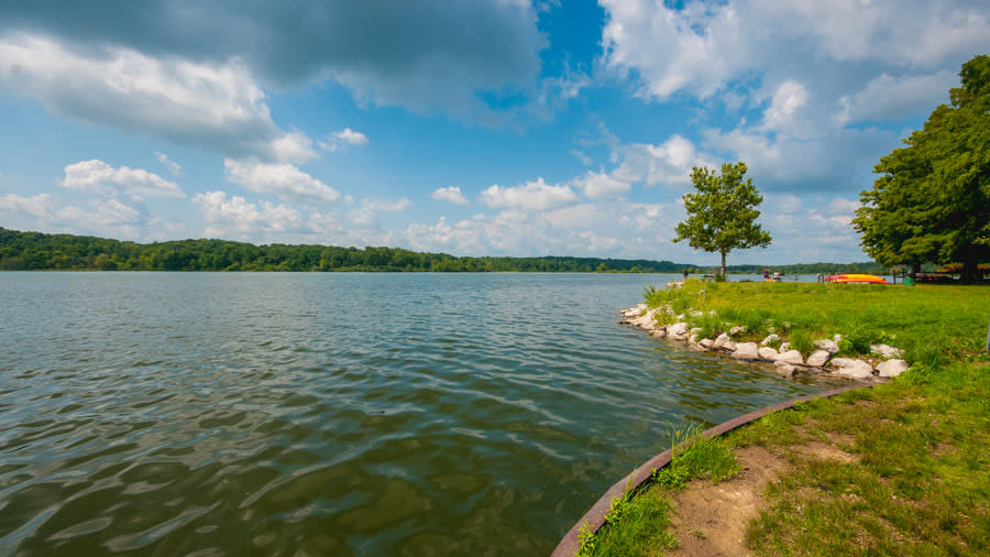
{"type": "Polygon", "coordinates": [[[987,52],[985,1],[6,2],[0,226],[713,264],[679,199],[743,160],[774,241],[730,264],[864,261],[987,52]]]}

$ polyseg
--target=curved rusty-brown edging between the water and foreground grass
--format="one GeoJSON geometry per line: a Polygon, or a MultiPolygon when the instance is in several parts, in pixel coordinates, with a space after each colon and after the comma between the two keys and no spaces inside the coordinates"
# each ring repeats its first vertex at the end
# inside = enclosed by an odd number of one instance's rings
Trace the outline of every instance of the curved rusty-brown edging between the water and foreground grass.
{"type": "MultiPolygon", "coordinates": [[[[733,419],[729,419],[728,422],[723,422],[715,427],[705,429],[702,435],[705,438],[717,437],[719,435],[732,432],[733,429],[756,422],[767,414],[772,414],[781,409],[790,408],[799,402],[809,402],[815,398],[831,398],[837,394],[856,391],[857,389],[869,389],[871,386],[873,386],[873,384],[849,385],[842,389],[835,389],[833,391],[823,391],[821,393],[809,394],[790,401],[779,402],[771,406],[767,406],[765,408],[750,412],[749,414],[744,414],[741,416],[735,417],[733,419]]],[[[587,522],[587,525],[592,532],[598,532],[598,528],[601,528],[602,525],[605,524],[605,514],[612,506],[613,499],[620,496],[627,489],[637,489],[642,485],[647,480],[650,479],[653,470],[659,470],[669,465],[670,459],[670,449],[664,450],[663,452],[640,465],[640,467],[634,470],[632,473],[616,482],[615,485],[608,488],[608,491],[606,491],[605,494],[602,495],[602,499],[600,499],[594,505],[592,505],[592,507],[586,513],[584,513],[584,516],[579,518],[574,526],[572,526],[571,529],[568,531],[566,534],[564,534],[564,537],[561,538],[559,544],[557,544],[557,548],[553,549],[553,554],[551,554],[551,557],[573,557],[578,553],[578,549],[581,547],[579,533],[581,532],[582,526],[584,526],[584,523],[587,522]]]]}

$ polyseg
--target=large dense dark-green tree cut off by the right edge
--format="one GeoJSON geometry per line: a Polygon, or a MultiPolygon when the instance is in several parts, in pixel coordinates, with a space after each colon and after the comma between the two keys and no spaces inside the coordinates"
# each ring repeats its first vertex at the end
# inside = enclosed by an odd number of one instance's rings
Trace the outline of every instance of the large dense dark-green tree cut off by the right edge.
{"type": "Polygon", "coordinates": [[[882,157],[853,226],[879,263],[963,263],[979,278],[990,260],[990,56],[963,65],[952,105],[938,106],[906,146],[882,157]]]}

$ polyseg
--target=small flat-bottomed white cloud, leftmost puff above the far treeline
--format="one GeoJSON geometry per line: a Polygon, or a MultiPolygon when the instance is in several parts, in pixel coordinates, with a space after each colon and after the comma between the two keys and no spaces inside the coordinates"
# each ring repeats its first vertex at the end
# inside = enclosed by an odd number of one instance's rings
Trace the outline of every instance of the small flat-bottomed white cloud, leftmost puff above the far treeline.
{"type": "Polygon", "coordinates": [[[145,197],[186,197],[178,184],[157,174],[128,166],[114,168],[96,159],[66,166],[61,184],[74,192],[101,195],[121,193],[138,200],[145,197]]]}

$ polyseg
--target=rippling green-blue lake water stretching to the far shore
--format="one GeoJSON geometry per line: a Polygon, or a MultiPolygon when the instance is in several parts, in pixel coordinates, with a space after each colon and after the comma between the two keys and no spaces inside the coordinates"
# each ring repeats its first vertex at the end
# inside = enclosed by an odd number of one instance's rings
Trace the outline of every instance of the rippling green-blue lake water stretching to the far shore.
{"type": "Polygon", "coordinates": [[[836,384],[617,325],[673,277],[0,273],[0,555],[546,555],[669,425],[836,384]]]}

